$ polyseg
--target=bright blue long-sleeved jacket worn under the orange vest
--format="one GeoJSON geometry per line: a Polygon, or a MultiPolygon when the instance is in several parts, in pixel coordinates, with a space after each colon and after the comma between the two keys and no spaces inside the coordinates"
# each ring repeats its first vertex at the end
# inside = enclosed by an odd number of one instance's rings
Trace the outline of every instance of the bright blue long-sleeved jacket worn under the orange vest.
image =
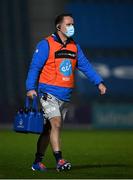
{"type": "MultiPolygon", "coordinates": [[[[57,41],[57,37],[53,34],[53,38],[57,41]]],[[[77,69],[82,71],[87,78],[95,85],[100,84],[103,79],[101,76],[94,70],[89,59],[86,58],[82,49],[77,44],[77,69]]],[[[36,50],[33,54],[32,62],[30,64],[27,80],[26,80],[26,90],[37,90],[41,94],[41,92],[50,93],[61,99],[63,101],[69,101],[71,98],[73,88],[59,87],[54,85],[49,85],[45,83],[38,84],[39,74],[45,66],[45,63],[49,56],[49,45],[47,40],[42,40],[37,44],[36,50]]]]}

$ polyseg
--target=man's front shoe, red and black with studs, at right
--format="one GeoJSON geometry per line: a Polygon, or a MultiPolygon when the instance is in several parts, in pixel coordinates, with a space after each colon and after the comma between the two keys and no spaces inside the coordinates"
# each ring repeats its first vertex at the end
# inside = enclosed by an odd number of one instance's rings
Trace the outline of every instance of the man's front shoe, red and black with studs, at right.
{"type": "Polygon", "coordinates": [[[60,159],[56,165],[57,171],[65,171],[70,169],[71,169],[71,164],[64,159],[60,159]]]}

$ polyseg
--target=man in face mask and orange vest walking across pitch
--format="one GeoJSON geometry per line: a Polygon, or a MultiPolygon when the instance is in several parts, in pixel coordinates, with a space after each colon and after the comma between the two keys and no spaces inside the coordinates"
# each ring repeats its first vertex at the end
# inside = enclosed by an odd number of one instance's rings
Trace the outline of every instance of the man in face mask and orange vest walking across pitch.
{"type": "Polygon", "coordinates": [[[39,95],[47,119],[45,131],[40,134],[37,142],[32,170],[46,170],[42,160],[49,142],[56,160],[56,169],[62,171],[71,168],[71,164],[62,157],[60,130],[74,88],[75,69],[82,71],[97,85],[101,95],[106,92],[103,79],[72,39],[75,31],[72,15],[57,16],[55,27],[54,34],[38,43],[26,80],[27,96],[33,98],[39,95]]]}

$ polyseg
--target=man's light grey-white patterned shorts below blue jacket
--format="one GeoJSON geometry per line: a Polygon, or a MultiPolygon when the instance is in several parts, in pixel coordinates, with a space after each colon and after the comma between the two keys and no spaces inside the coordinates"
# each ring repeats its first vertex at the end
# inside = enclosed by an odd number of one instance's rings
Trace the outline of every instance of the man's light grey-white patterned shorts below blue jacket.
{"type": "Polygon", "coordinates": [[[65,119],[68,111],[69,102],[57,99],[55,96],[44,93],[40,99],[44,116],[50,120],[53,117],[61,116],[62,120],[65,119]]]}

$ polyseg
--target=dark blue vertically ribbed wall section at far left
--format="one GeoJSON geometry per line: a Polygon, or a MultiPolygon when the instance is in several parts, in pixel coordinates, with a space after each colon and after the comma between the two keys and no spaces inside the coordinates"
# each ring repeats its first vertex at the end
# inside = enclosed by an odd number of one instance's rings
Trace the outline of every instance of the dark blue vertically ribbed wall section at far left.
{"type": "Polygon", "coordinates": [[[27,1],[0,1],[1,104],[15,104],[24,94],[30,31],[27,1]]]}

